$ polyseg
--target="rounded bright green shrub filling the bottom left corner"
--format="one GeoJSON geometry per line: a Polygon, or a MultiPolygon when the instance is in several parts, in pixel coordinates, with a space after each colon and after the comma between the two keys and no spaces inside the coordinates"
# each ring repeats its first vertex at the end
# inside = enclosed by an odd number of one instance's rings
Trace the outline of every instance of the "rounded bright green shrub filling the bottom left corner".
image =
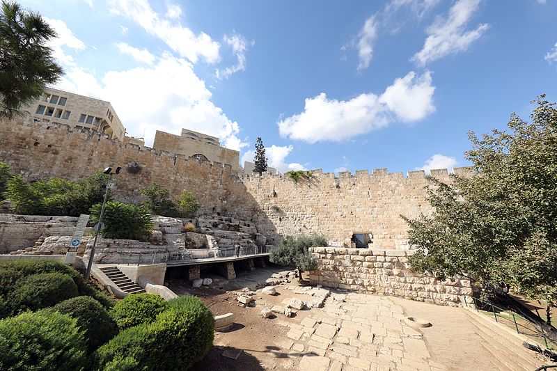
{"type": "Polygon", "coordinates": [[[80,370],[86,364],[76,320],[52,310],[0,320],[0,370],[80,370]]]}

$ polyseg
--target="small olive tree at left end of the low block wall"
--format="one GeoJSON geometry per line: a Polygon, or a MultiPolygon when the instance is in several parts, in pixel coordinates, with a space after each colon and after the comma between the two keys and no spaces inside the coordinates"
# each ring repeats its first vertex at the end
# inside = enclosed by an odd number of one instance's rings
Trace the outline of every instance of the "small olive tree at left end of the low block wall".
{"type": "Polygon", "coordinates": [[[269,259],[278,265],[296,267],[301,280],[303,271],[317,268],[317,260],[308,251],[308,248],[317,246],[327,246],[327,238],[322,235],[286,236],[281,245],[271,251],[269,259]]]}

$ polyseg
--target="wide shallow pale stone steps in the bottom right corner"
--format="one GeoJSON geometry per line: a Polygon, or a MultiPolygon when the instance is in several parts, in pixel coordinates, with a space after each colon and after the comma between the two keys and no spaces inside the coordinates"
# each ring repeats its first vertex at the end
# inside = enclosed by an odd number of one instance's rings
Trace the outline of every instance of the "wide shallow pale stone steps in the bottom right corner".
{"type": "Polygon", "coordinates": [[[480,317],[483,314],[472,313],[470,310],[466,314],[473,324],[474,332],[482,339],[480,344],[492,354],[491,361],[496,370],[533,371],[541,365],[551,363],[544,362],[541,356],[526,349],[522,345],[523,340],[502,329],[492,319],[480,317]]]}

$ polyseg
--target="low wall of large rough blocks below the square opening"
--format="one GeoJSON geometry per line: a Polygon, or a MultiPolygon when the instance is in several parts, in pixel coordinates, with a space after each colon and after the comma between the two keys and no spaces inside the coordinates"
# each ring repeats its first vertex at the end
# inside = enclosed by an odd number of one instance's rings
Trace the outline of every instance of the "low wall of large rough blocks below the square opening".
{"type": "Polygon", "coordinates": [[[462,294],[471,294],[468,279],[438,281],[413,271],[412,251],[373,248],[314,247],[318,267],[310,272],[314,285],[393,295],[445,306],[458,306],[462,294]]]}

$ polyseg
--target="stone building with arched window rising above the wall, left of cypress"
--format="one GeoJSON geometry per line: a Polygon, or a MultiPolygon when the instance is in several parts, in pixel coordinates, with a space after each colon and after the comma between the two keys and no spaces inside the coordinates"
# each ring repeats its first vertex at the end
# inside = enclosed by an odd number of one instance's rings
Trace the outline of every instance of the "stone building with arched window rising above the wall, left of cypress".
{"type": "Polygon", "coordinates": [[[222,147],[216,136],[189,129],[182,129],[180,136],[157,130],[152,148],[194,157],[198,161],[219,162],[241,170],[240,152],[222,147]]]}

